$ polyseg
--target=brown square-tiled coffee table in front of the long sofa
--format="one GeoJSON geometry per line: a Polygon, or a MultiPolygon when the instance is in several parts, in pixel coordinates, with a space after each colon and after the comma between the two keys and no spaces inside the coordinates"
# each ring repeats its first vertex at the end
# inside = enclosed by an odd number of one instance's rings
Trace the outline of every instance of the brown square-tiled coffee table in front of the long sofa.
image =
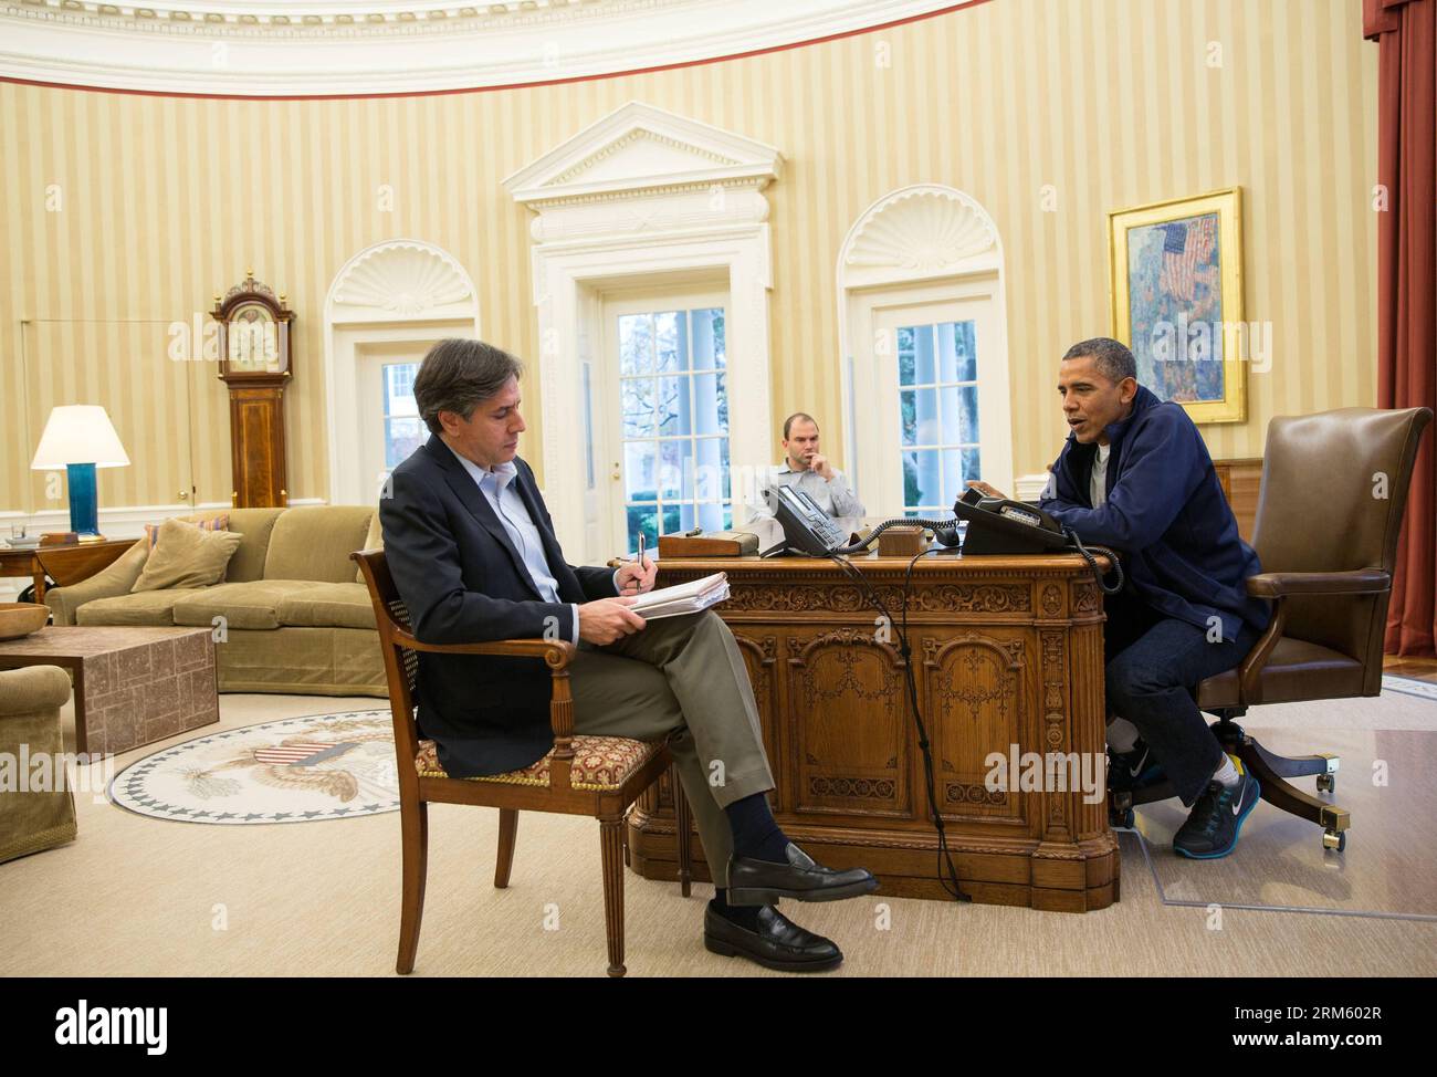
{"type": "Polygon", "coordinates": [[[119,755],[220,720],[208,628],[49,625],[0,643],[0,669],[75,677],[75,751],[119,755]]]}

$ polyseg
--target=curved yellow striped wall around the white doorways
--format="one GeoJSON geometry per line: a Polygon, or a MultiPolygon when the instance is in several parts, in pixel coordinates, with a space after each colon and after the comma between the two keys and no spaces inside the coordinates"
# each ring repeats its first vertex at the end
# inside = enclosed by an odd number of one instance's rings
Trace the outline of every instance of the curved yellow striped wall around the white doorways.
{"type": "MultiPolygon", "coordinates": [[[[1273,414],[1375,403],[1375,91],[1359,0],[994,0],[766,56],[430,98],[4,83],[0,510],[60,508],[26,469],[49,408],[80,401],[111,408],[135,463],[101,473],[102,506],[172,503],[191,464],[197,500],[227,500],[224,387],[210,365],[165,358],[165,326],[247,267],[297,312],[292,498],[328,495],[322,306],[365,246],[447,249],[477,283],[483,335],[536,362],[529,214],[500,180],[635,98],[783,152],[769,188],[773,414],[816,413],[835,449],[833,263],[887,191],[950,184],[997,221],[1013,460],[1027,473],[1063,436],[1058,357],[1108,332],[1105,214],[1242,185],[1246,316],[1273,324],[1273,368],[1250,377],[1246,423],[1203,433],[1216,457],[1259,456],[1273,414]],[[382,184],[392,213],[378,210],[382,184]]],[[[525,447],[540,475],[542,423],[525,447]]]]}

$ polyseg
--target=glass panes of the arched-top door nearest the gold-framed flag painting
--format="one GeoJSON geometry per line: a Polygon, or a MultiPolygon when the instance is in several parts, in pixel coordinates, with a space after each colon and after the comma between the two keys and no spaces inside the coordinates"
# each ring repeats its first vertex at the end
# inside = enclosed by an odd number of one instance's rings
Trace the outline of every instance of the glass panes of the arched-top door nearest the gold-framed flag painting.
{"type": "Polygon", "coordinates": [[[983,475],[974,324],[901,325],[895,338],[904,515],[948,515],[983,475]]]}

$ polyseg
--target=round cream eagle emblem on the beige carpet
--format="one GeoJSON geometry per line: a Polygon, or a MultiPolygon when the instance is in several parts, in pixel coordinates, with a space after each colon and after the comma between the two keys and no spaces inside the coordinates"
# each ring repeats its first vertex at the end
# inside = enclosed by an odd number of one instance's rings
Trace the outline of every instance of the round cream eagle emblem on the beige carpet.
{"type": "Polygon", "coordinates": [[[185,741],[126,766],[122,808],[177,822],[319,822],[399,808],[389,712],[264,722],[185,741]]]}

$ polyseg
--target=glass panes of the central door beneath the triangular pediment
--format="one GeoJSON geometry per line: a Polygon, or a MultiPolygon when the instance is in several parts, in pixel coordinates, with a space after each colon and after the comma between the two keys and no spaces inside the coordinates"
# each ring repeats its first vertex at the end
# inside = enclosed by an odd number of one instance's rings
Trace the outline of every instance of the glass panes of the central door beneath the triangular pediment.
{"type": "Polygon", "coordinates": [[[618,316],[628,548],[733,525],[724,311],[618,316]]]}

